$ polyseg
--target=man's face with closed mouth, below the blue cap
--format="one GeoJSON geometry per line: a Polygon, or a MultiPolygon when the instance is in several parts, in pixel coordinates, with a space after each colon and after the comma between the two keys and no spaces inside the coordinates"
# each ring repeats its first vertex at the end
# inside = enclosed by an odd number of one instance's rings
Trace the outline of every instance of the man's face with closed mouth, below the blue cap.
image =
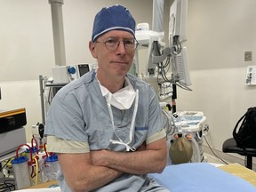
{"type": "Polygon", "coordinates": [[[121,30],[111,30],[100,36],[95,43],[90,43],[92,56],[98,60],[98,74],[104,77],[122,77],[129,71],[135,50],[127,50],[124,42],[133,40],[131,33],[121,30]],[[104,42],[120,41],[119,46],[109,50],[104,42]]]}

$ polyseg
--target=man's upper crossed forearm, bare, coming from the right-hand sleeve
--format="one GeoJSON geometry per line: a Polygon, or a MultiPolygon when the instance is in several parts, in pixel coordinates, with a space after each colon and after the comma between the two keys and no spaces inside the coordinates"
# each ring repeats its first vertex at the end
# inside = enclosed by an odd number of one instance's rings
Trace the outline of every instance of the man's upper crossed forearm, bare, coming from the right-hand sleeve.
{"type": "Polygon", "coordinates": [[[166,139],[145,143],[134,152],[91,151],[92,165],[105,166],[119,172],[145,174],[162,172],[166,165],[166,139]]]}

